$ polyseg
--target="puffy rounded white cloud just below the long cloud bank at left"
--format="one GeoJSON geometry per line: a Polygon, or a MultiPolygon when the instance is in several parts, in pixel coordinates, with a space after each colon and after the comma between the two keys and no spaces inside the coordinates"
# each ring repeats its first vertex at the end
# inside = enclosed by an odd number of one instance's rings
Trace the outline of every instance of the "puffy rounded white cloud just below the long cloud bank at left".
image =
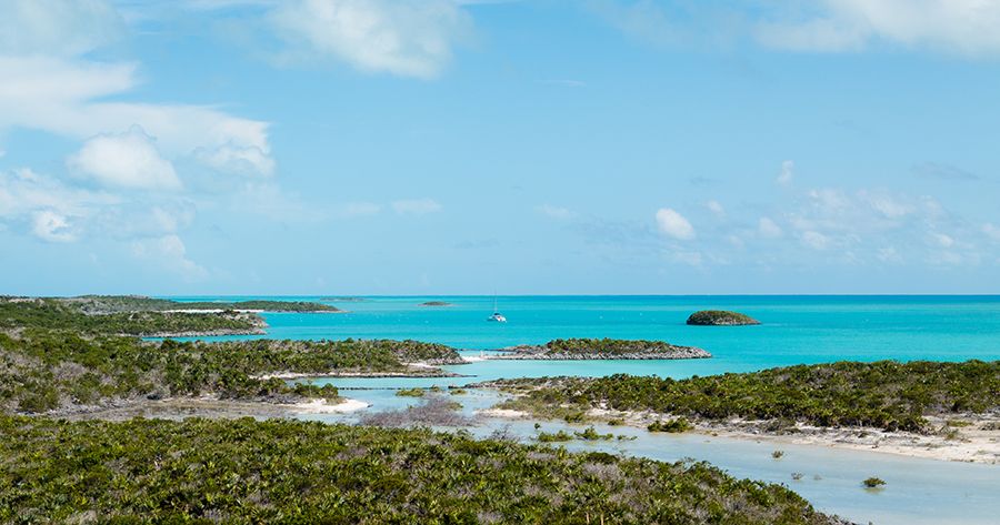
{"type": "Polygon", "coordinates": [[[106,186],[134,190],[178,190],[173,164],[160,157],[153,139],[139,127],[120,134],[103,134],[83,143],[67,160],[71,171],[106,186]]]}

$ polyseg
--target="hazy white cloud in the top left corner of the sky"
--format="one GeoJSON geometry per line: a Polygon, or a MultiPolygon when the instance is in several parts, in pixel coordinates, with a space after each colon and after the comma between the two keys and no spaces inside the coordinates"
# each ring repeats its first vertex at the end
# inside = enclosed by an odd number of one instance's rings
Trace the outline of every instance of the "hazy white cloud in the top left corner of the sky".
{"type": "Polygon", "coordinates": [[[71,55],[114,41],[124,23],[103,0],[4,0],[0,50],[71,55]]]}

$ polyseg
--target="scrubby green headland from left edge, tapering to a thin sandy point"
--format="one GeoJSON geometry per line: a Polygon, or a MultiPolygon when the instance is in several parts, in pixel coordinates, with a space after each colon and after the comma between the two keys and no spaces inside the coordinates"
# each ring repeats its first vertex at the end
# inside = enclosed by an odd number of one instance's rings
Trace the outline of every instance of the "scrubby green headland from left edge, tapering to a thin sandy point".
{"type": "Polygon", "coordinates": [[[461,362],[451,347],[416,341],[240,341],[224,343],[0,333],[0,408],[73,413],[160,400],[241,400],[290,404],[337,400],[337,388],[290,384],[309,375],[444,375],[408,363],[461,362]]]}

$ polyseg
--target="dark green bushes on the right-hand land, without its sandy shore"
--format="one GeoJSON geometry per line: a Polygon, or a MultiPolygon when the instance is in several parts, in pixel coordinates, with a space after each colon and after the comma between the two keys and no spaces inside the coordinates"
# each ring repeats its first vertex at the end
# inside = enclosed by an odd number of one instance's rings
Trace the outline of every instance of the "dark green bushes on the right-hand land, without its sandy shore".
{"type": "Polygon", "coordinates": [[[924,415],[1000,407],[1000,362],[839,362],[688,380],[613,375],[514,380],[508,407],[534,413],[607,406],[707,420],[788,420],[819,426],[928,431],[924,415]]]}

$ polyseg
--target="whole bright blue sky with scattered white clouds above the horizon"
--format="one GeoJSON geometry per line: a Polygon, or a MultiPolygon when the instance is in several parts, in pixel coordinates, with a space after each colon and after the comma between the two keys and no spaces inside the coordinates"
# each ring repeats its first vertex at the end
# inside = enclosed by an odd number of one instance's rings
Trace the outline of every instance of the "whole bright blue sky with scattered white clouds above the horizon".
{"type": "Polygon", "coordinates": [[[1000,293],[1000,0],[0,0],[83,293],[1000,293]]]}

